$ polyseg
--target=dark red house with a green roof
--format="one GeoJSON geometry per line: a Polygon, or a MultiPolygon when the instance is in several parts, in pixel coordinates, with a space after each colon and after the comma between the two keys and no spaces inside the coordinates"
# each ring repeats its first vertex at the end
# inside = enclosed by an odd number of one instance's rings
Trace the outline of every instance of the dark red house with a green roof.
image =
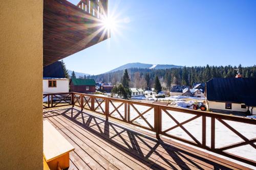
{"type": "Polygon", "coordinates": [[[78,93],[94,93],[96,82],[94,79],[71,79],[70,90],[78,93]]]}

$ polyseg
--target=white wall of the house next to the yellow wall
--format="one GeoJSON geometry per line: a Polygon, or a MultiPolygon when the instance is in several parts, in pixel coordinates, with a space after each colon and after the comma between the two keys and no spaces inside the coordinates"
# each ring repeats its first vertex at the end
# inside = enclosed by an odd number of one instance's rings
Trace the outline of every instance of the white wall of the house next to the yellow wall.
{"type": "Polygon", "coordinates": [[[57,87],[48,87],[48,80],[42,80],[43,93],[69,92],[69,80],[56,80],[56,86],[57,87]]]}

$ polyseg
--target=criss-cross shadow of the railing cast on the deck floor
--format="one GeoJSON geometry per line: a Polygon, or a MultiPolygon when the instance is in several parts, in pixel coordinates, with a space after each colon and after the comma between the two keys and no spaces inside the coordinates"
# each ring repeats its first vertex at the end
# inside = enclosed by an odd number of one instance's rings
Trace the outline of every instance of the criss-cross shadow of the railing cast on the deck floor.
{"type": "Polygon", "coordinates": [[[44,118],[53,118],[54,116],[66,117],[82,130],[93,133],[151,169],[205,169],[206,166],[214,169],[230,169],[191,152],[170,146],[169,143],[161,139],[145,136],[117,124],[106,122],[105,119],[86,111],[65,108],[44,112],[44,118]]]}

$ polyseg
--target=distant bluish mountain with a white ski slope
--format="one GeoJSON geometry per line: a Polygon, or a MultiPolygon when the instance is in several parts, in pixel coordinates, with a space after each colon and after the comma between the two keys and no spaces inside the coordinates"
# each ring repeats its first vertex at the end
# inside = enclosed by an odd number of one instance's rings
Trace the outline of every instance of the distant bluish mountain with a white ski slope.
{"type": "Polygon", "coordinates": [[[115,69],[112,69],[106,73],[109,72],[115,72],[115,71],[119,71],[119,70],[124,70],[124,69],[128,69],[128,68],[149,68],[149,69],[167,69],[167,68],[181,68],[182,66],[178,66],[178,65],[168,65],[168,64],[144,64],[144,63],[128,63],[128,64],[124,64],[120,67],[117,67],[115,69]]]}

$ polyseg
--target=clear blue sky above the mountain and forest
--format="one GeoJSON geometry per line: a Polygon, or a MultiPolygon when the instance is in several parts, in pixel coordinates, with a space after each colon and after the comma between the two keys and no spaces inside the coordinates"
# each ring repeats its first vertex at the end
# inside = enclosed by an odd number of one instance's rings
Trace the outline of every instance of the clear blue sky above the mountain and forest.
{"type": "Polygon", "coordinates": [[[65,58],[68,69],[97,75],[132,62],[256,64],[254,0],[109,0],[109,13],[115,8],[114,15],[124,20],[118,33],[65,58]]]}

